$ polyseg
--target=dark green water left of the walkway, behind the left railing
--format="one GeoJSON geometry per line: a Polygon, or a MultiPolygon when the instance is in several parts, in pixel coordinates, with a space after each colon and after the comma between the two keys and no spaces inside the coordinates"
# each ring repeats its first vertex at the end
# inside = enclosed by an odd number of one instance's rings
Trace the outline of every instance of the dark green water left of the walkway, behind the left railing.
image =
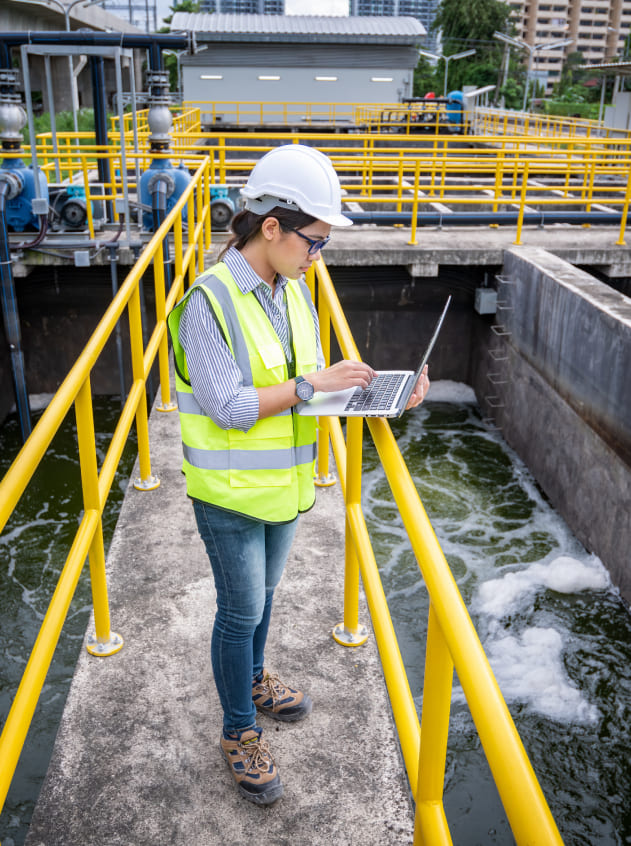
{"type": "MultiPolygon", "coordinates": [[[[120,408],[111,398],[94,401],[99,466],[120,408]]],[[[35,422],[35,421],[34,421],[35,422]]],[[[20,449],[16,419],[0,427],[0,476],[20,449]]],[[[125,449],[103,520],[106,547],[114,533],[136,455],[125,449]]],[[[76,427],[71,412],[48,455],[0,535],[0,723],[4,724],[26,660],[77,530],[82,509],[76,427]]],[[[0,816],[2,846],[20,846],[48,767],[57,725],[91,610],[87,564],[79,580],[50,672],[0,816]]]]}

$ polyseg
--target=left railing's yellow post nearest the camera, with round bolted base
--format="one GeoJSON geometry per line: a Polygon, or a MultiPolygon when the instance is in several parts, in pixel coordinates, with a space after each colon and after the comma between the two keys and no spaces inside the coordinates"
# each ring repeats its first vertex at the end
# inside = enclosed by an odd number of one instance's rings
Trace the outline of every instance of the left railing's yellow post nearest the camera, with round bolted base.
{"type": "Polygon", "coordinates": [[[92,412],[90,377],[83,382],[75,400],[79,465],[83,487],[83,507],[98,514],[96,531],[90,544],[90,582],[94,606],[95,635],[89,635],[86,648],[90,655],[114,655],[123,648],[123,639],[110,629],[110,609],[105,577],[105,547],[103,544],[103,504],[99,495],[99,473],[96,464],[96,439],[92,412]]]}

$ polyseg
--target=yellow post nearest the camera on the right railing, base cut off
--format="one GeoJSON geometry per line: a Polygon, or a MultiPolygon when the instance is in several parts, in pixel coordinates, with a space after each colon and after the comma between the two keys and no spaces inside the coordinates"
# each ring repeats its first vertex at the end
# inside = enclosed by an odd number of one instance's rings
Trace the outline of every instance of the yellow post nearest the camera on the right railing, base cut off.
{"type": "Polygon", "coordinates": [[[454,664],[430,604],[423,682],[414,846],[451,846],[443,807],[454,664]]]}

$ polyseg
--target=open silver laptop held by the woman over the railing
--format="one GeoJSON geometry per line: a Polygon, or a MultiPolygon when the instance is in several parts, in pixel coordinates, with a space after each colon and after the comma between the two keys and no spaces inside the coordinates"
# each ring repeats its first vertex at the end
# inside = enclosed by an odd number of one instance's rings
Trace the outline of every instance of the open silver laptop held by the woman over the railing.
{"type": "Polygon", "coordinates": [[[367,388],[316,391],[295,406],[298,414],[318,417],[401,417],[440,333],[451,296],[442,310],[419,366],[412,370],[381,370],[367,388]]]}

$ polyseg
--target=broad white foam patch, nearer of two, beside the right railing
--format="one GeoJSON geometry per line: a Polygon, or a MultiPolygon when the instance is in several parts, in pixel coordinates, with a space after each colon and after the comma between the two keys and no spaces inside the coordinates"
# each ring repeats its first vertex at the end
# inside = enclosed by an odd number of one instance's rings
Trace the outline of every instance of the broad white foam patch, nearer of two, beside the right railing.
{"type": "Polygon", "coordinates": [[[598,708],[567,677],[563,638],[555,629],[535,627],[498,637],[486,644],[486,654],[506,701],[560,722],[598,721],[598,708]]]}

